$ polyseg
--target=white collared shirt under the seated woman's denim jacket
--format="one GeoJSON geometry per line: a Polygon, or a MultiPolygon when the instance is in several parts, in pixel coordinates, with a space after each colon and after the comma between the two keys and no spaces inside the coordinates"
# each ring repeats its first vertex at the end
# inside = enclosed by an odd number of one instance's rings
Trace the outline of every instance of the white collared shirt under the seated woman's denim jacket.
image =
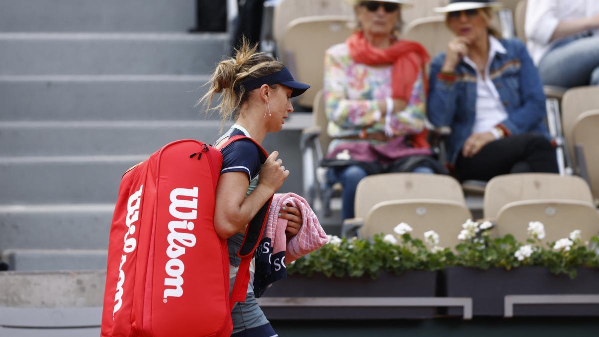
{"type": "Polygon", "coordinates": [[[476,116],[474,120],[473,133],[491,132],[495,138],[500,138],[500,134],[495,130],[495,126],[507,119],[506,108],[501,103],[501,98],[497,88],[489,77],[489,67],[495,54],[507,53],[497,38],[489,35],[489,59],[485,68],[485,79],[480,75],[476,63],[468,56],[464,57],[464,62],[468,63],[476,71],[476,116]]]}

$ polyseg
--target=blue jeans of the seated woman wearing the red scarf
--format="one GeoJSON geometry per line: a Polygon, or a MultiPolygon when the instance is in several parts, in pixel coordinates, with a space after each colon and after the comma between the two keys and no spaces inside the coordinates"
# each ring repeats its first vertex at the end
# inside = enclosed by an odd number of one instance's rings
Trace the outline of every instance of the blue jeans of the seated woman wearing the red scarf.
{"type": "MultiPolygon", "coordinates": [[[[434,174],[435,172],[427,166],[419,166],[413,169],[414,173],[434,174]]],[[[328,172],[329,184],[341,183],[341,221],[355,217],[354,202],[356,199],[356,187],[362,178],[368,173],[360,166],[352,165],[344,168],[330,168],[328,172]]]]}

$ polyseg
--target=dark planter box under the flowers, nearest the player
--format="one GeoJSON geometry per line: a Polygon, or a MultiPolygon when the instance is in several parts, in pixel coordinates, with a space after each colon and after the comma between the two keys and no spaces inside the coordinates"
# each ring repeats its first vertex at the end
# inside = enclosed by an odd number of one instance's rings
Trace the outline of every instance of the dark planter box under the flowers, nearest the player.
{"type": "MultiPolygon", "coordinates": [[[[382,272],[370,277],[326,277],[322,274],[290,275],[276,281],[262,297],[433,297],[437,273],[409,271],[401,275],[382,272]]],[[[290,319],[391,319],[431,318],[431,307],[262,307],[269,320],[290,319]]]]}

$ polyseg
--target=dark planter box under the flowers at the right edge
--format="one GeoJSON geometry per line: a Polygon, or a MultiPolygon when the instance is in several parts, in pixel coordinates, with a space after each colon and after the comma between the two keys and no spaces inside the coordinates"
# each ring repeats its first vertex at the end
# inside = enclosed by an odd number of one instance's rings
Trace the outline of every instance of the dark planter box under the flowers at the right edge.
{"type": "MultiPolygon", "coordinates": [[[[544,267],[520,267],[506,271],[501,268],[480,270],[449,267],[442,272],[444,295],[472,297],[473,314],[503,316],[506,295],[591,295],[599,294],[599,269],[578,269],[577,277],[555,275],[544,267]]],[[[450,315],[459,315],[448,308],[450,315]]],[[[515,316],[595,316],[596,304],[515,305],[515,316]]]]}

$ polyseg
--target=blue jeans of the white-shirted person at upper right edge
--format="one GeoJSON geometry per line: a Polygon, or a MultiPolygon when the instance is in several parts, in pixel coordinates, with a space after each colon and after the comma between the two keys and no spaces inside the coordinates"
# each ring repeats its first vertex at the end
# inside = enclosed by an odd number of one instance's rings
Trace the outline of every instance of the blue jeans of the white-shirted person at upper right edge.
{"type": "Polygon", "coordinates": [[[599,37],[571,37],[558,42],[539,63],[543,84],[599,86],[599,37]]]}

